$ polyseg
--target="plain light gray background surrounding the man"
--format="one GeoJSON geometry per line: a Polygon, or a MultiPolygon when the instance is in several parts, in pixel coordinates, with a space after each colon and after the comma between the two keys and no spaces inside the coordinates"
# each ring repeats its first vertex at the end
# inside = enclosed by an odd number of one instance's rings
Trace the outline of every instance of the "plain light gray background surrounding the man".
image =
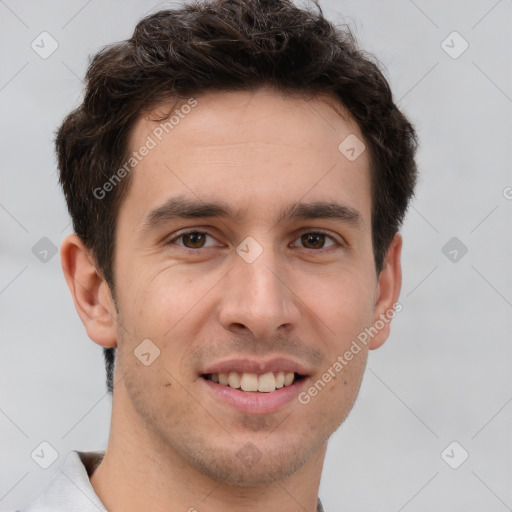
{"type": "MultiPolygon", "coordinates": [[[[52,139],[88,56],[169,5],[0,0],[2,511],[35,498],[69,450],[108,439],[101,349],[58,254],[40,261],[32,248],[71,232],[52,139]],[[31,48],[43,31],[59,44],[47,59],[31,48]],[[48,469],[30,455],[42,441],[59,454],[48,469]]],[[[403,311],[330,442],[320,496],[327,512],[511,510],[512,2],[322,5],[386,66],[419,132],[422,176],[403,228],[403,311]],[[445,51],[460,52],[458,36],[442,46],[454,31],[469,44],[458,58],[445,51]]]]}

